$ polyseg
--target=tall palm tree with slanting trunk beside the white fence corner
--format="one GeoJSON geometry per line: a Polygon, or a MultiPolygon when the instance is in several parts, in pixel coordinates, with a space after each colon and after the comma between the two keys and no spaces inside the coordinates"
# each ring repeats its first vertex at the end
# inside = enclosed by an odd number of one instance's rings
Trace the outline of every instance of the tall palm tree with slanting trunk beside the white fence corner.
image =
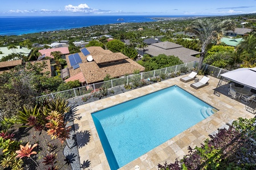
{"type": "Polygon", "coordinates": [[[233,20],[223,20],[220,22],[220,20],[210,19],[197,19],[186,28],[186,32],[195,33],[201,43],[201,56],[197,71],[201,70],[209,44],[216,41],[222,31],[234,31],[234,28],[235,23],[233,20]]]}

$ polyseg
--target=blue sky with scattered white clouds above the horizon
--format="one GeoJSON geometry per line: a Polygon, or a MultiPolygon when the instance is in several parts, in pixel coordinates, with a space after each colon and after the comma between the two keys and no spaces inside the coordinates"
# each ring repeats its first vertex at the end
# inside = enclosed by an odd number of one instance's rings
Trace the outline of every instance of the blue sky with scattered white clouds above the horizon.
{"type": "Polygon", "coordinates": [[[1,0],[0,16],[236,15],[256,12],[256,0],[1,0]]]}

